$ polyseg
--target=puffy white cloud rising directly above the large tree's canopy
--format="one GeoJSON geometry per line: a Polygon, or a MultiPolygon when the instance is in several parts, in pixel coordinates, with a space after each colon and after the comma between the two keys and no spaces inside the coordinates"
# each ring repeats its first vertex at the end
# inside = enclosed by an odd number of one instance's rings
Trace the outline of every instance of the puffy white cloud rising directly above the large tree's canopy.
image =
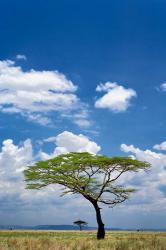
{"type": "Polygon", "coordinates": [[[91,141],[88,137],[81,134],[75,135],[69,131],[64,131],[56,137],[49,137],[44,141],[54,142],[56,144],[52,154],[49,155],[43,151],[40,152],[40,157],[44,160],[67,152],[89,152],[97,154],[101,149],[97,143],[91,141]]]}

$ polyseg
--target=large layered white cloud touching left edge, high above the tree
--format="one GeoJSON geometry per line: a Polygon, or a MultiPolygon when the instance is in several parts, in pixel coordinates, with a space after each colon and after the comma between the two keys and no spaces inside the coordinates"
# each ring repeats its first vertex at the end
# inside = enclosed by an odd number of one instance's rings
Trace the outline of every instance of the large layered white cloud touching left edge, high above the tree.
{"type": "MultiPolygon", "coordinates": [[[[14,61],[0,61],[1,112],[19,113],[31,121],[47,125],[51,122],[48,117],[51,112],[62,115],[86,110],[75,94],[76,90],[77,86],[58,71],[23,71],[14,61]]],[[[88,125],[86,113],[84,126],[88,125]]]]}

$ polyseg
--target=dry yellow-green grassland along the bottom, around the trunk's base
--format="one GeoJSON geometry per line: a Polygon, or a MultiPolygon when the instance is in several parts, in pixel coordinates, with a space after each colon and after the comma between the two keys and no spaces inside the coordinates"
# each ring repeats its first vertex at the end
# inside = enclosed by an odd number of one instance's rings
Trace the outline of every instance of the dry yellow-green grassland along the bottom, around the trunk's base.
{"type": "Polygon", "coordinates": [[[0,231],[0,250],[166,250],[166,233],[94,231],[0,231]]]}

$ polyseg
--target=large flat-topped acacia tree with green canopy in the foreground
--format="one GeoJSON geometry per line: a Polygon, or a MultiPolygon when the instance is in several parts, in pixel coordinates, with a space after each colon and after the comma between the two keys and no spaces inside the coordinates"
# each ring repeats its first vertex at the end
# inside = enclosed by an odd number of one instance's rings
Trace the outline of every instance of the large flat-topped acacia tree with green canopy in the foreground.
{"type": "Polygon", "coordinates": [[[113,207],[129,198],[135,189],[118,184],[127,172],[148,169],[150,164],[128,157],[107,157],[87,152],[68,153],[53,159],[37,162],[25,171],[27,189],[40,189],[50,184],[60,184],[63,193],[81,194],[96,211],[97,239],[104,239],[105,228],[99,204],[113,207]]]}

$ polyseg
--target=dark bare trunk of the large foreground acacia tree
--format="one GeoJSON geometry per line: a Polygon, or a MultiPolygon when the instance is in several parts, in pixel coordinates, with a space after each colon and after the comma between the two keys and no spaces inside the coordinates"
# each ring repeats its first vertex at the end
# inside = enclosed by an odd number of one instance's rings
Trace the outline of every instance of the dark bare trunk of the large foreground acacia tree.
{"type": "Polygon", "coordinates": [[[94,202],[92,204],[93,204],[95,211],[96,211],[96,219],[97,219],[97,224],[98,224],[97,239],[101,240],[101,239],[104,239],[104,237],[105,237],[105,228],[104,228],[104,224],[103,224],[102,219],[101,219],[100,208],[99,208],[97,202],[94,202]]]}

